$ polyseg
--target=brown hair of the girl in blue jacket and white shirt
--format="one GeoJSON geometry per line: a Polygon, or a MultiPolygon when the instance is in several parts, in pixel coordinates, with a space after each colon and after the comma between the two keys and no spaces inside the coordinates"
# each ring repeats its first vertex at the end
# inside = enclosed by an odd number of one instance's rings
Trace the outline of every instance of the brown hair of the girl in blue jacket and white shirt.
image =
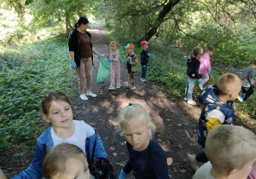
{"type": "Polygon", "coordinates": [[[41,103],[43,113],[47,116],[49,114],[49,107],[51,106],[52,101],[66,101],[71,106],[71,102],[68,100],[66,95],[58,90],[50,91],[44,95],[41,103]]]}

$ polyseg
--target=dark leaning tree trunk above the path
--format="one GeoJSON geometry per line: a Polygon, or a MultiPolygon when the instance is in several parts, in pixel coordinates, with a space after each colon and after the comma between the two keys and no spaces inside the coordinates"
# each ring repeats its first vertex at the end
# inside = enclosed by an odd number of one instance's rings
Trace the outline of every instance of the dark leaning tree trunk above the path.
{"type": "Polygon", "coordinates": [[[144,35],[143,38],[141,38],[139,41],[143,40],[150,40],[154,36],[154,34],[157,32],[157,29],[160,27],[161,23],[164,22],[166,14],[168,14],[174,6],[177,5],[181,0],[171,0],[169,3],[166,3],[166,5],[163,6],[163,9],[158,14],[158,18],[154,20],[154,24],[152,24],[152,28],[149,29],[148,32],[144,35]]]}

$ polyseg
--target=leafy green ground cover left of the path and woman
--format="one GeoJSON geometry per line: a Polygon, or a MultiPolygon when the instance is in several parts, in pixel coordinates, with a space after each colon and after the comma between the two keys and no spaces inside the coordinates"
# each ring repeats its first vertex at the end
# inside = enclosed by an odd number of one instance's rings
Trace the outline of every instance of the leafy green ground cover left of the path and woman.
{"type": "Polygon", "coordinates": [[[1,49],[0,149],[20,143],[34,147],[44,125],[42,96],[49,90],[61,90],[68,96],[76,91],[67,38],[46,34],[47,38],[36,43],[1,49]]]}

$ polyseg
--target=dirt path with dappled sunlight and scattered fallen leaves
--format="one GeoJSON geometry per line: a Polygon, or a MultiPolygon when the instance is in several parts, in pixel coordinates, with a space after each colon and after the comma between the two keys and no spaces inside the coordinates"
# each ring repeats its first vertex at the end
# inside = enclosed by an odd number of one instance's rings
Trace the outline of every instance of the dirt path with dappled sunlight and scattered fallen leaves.
{"type": "MultiPolygon", "coordinates": [[[[103,55],[108,56],[108,39],[97,26],[91,30],[94,47],[103,55]]],[[[122,59],[121,59],[122,60],[122,59]]],[[[95,58],[96,68],[99,66],[95,58]]],[[[182,98],[177,98],[161,91],[150,82],[139,81],[139,72],[135,75],[136,90],[126,90],[127,71],[121,65],[122,87],[119,90],[108,90],[106,84],[96,83],[96,70],[93,70],[92,91],[98,95],[89,101],[81,101],[79,97],[73,99],[77,105],[74,108],[75,118],[84,120],[86,123],[97,128],[102,136],[104,147],[108,153],[108,159],[113,164],[115,173],[118,175],[121,163],[128,159],[125,137],[117,131],[117,116],[119,111],[128,105],[129,101],[137,102],[146,107],[154,118],[157,131],[154,139],[166,151],[167,158],[172,158],[173,163],[169,166],[172,178],[192,178],[194,172],[186,161],[186,153],[198,153],[201,147],[197,145],[195,130],[201,110],[199,107],[189,107],[182,98]],[[111,149],[110,149],[111,148],[111,149]],[[112,150],[114,148],[114,150],[112,150]],[[117,153],[116,157],[113,155],[117,153]]],[[[132,178],[132,175],[130,175],[132,178]]]]}

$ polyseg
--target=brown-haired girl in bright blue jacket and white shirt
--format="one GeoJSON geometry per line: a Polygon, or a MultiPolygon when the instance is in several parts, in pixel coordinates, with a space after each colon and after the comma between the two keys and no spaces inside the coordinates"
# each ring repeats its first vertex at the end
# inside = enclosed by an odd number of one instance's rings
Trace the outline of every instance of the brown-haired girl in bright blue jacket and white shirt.
{"type": "Polygon", "coordinates": [[[63,142],[80,147],[86,154],[89,166],[92,162],[93,147],[96,143],[96,158],[106,158],[101,137],[95,129],[84,121],[73,120],[71,103],[67,96],[59,91],[51,91],[42,100],[42,117],[51,126],[38,137],[35,159],[29,167],[14,178],[41,178],[45,153],[55,145],[63,142]]]}

